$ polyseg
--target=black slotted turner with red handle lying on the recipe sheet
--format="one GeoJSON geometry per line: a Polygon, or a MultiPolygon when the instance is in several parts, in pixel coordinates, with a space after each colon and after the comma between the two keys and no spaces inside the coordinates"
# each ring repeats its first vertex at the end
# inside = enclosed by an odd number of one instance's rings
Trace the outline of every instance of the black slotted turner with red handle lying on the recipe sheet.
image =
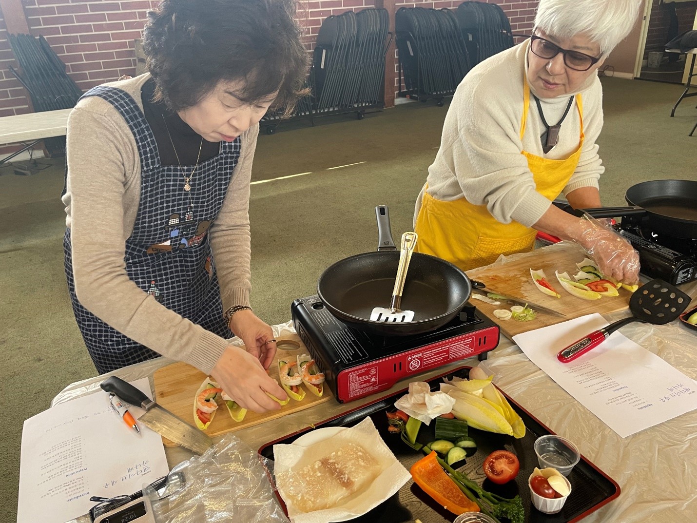
{"type": "Polygon", "coordinates": [[[664,280],[651,280],[639,287],[629,298],[629,310],[633,314],[629,318],[620,319],[615,323],[593,331],[585,338],[572,343],[557,354],[562,363],[574,361],[591,349],[607,340],[608,336],[618,328],[631,324],[633,321],[643,321],[654,325],[665,325],[677,319],[689,305],[691,298],[680,289],[673,287],[664,280]]]}

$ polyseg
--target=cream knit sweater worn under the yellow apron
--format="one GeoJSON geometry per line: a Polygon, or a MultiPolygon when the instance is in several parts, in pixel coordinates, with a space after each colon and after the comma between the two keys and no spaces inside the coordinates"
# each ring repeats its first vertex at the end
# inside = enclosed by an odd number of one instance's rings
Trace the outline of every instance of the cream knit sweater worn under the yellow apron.
{"type": "MultiPolygon", "coordinates": [[[[558,144],[545,154],[539,137],[546,128],[530,96],[521,140],[528,43],[526,40],[477,64],[460,82],[445,116],[441,147],[429,167],[427,183],[429,195],[436,199],[464,197],[471,204],[486,205],[499,222],[516,220],[530,227],[551,202],[535,190],[533,174],[521,151],[554,160],[568,158],[579,146],[581,122],[574,104],[562,123],[558,144]]],[[[582,187],[597,188],[604,172],[595,143],[603,126],[602,86],[597,74],[590,75],[576,92],[581,93],[583,102],[585,142],[564,195],[582,187]]],[[[560,120],[572,94],[540,99],[547,123],[560,120]]],[[[416,201],[414,222],[423,192],[416,201]]]]}

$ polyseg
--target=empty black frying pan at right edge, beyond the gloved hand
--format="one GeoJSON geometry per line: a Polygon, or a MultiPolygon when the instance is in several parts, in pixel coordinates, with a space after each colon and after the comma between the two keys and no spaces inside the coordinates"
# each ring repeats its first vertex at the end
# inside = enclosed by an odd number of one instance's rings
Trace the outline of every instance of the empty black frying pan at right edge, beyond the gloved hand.
{"type": "Polygon", "coordinates": [[[648,215],[655,232],[697,238],[697,181],[651,180],[632,185],[625,199],[633,207],[583,209],[594,218],[648,215]]]}

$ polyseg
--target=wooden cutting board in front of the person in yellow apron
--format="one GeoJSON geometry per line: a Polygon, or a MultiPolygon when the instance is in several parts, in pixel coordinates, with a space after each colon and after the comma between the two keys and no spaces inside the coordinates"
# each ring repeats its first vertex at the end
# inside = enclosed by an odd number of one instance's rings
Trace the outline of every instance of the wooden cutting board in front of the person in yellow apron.
{"type": "MultiPolygon", "coordinates": [[[[616,312],[618,310],[626,310],[629,308],[629,298],[631,292],[627,289],[620,289],[620,296],[603,296],[599,300],[584,300],[569,294],[561,286],[554,274],[554,271],[560,273],[567,272],[569,276],[574,277],[574,274],[579,272],[576,263],[583,261],[585,252],[575,243],[560,243],[551,245],[547,248],[533,250],[527,255],[523,255],[514,261],[507,264],[498,265],[495,267],[475,268],[467,271],[467,275],[473,280],[484,282],[487,287],[499,291],[507,296],[514,296],[522,300],[530,300],[539,303],[544,307],[558,310],[566,317],[549,314],[546,312],[537,312],[537,316],[532,321],[516,321],[515,319],[502,320],[493,315],[496,309],[510,308],[512,303],[501,301],[500,305],[491,305],[481,300],[470,300],[470,303],[475,305],[482,314],[486,315],[494,323],[501,328],[507,338],[512,338],[516,334],[532,331],[535,328],[541,328],[548,325],[558,324],[560,321],[585,316],[592,312],[606,314],[616,312]],[[547,281],[561,295],[561,298],[547,296],[539,291],[530,276],[530,269],[536,271],[543,269],[547,275],[547,281]]],[[[473,289],[473,292],[478,292],[473,289]]],[[[482,294],[482,292],[480,292],[482,294]]],[[[486,291],[483,291],[486,294],[486,291]]],[[[533,308],[534,309],[534,308],[533,308]]]]}

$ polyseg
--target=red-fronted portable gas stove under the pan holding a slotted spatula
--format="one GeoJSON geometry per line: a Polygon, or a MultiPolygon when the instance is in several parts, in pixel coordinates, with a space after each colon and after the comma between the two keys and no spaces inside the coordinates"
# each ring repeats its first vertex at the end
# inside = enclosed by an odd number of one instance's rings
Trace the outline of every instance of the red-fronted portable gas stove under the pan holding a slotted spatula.
{"type": "Polygon", "coordinates": [[[369,335],[336,319],[308,296],[291,305],[293,326],[341,403],[385,391],[411,374],[496,349],[499,328],[467,304],[449,324],[420,335],[369,335]]]}

